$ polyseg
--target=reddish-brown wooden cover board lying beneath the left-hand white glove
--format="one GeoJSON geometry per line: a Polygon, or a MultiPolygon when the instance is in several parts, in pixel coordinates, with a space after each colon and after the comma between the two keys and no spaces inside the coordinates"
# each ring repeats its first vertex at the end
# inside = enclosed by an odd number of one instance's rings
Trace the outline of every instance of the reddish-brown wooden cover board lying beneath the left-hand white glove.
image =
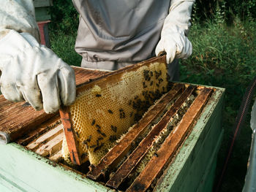
{"type": "MultiPolygon", "coordinates": [[[[79,86],[84,82],[89,82],[108,72],[100,72],[99,70],[88,70],[80,67],[72,66],[75,71],[76,85],[79,86]]],[[[53,118],[55,114],[46,114],[43,110],[36,111],[25,101],[11,102],[0,96],[0,142],[6,142],[5,135],[14,141],[23,134],[27,134],[38,128],[46,120],[53,118]],[[1,137],[1,134],[3,137],[1,137]]]]}

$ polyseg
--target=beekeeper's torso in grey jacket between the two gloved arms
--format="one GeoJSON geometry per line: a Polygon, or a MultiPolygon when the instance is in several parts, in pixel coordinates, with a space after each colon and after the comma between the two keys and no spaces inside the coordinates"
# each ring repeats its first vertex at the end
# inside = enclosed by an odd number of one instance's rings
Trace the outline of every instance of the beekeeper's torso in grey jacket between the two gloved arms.
{"type": "Polygon", "coordinates": [[[73,0],[80,13],[75,49],[88,61],[151,57],[170,0],[73,0]]]}

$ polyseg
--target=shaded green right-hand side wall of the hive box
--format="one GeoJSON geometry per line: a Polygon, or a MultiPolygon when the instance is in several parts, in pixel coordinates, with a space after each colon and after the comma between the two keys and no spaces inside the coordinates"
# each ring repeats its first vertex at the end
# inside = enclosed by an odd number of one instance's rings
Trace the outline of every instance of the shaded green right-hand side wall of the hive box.
{"type": "Polygon", "coordinates": [[[218,88],[213,94],[155,191],[197,191],[211,154],[219,150],[224,91],[218,88]]]}

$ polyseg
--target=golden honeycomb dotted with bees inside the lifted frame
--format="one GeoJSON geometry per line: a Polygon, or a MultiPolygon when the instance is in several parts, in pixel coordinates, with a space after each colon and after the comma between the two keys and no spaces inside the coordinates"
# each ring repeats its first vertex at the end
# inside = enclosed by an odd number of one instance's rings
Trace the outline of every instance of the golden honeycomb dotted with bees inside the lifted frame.
{"type": "Polygon", "coordinates": [[[164,63],[144,65],[116,80],[94,83],[78,93],[69,111],[80,156],[88,155],[90,163],[97,165],[116,140],[167,92],[167,68],[164,63]]]}

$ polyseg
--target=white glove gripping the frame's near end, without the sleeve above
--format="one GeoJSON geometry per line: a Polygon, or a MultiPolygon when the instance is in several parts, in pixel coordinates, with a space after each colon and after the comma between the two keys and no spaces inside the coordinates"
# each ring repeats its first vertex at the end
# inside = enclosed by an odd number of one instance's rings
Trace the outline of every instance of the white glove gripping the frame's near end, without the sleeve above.
{"type": "Polygon", "coordinates": [[[31,34],[10,30],[0,39],[0,61],[0,86],[6,99],[25,99],[47,113],[75,101],[74,71],[31,34]]]}

